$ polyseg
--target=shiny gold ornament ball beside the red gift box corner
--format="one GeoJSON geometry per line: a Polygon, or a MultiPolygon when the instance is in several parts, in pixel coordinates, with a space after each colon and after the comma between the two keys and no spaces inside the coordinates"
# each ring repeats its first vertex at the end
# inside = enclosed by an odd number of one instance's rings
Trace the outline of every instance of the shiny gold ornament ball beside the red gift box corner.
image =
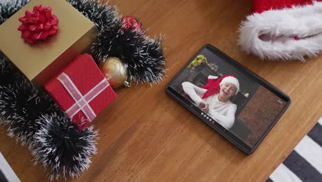
{"type": "Polygon", "coordinates": [[[100,71],[112,88],[119,88],[127,79],[127,68],[117,57],[108,57],[100,63],[100,71]]]}

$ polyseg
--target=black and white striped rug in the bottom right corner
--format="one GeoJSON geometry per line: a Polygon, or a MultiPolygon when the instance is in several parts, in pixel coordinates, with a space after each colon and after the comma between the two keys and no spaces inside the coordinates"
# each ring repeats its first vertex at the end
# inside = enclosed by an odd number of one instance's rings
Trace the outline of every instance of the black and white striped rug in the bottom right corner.
{"type": "Polygon", "coordinates": [[[266,182],[322,182],[322,117],[266,182]]]}

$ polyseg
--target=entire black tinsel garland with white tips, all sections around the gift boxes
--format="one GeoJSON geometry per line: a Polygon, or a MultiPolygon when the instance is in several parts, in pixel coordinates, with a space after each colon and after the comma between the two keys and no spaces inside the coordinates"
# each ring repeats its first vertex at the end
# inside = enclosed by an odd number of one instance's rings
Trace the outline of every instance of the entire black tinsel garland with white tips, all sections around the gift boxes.
{"type": "MultiPolygon", "coordinates": [[[[29,0],[0,1],[0,25],[29,0]]],[[[93,21],[98,41],[92,56],[99,64],[107,57],[120,58],[136,83],[158,83],[164,75],[162,37],[127,30],[116,8],[98,0],[66,0],[93,21]]],[[[3,36],[3,35],[0,35],[3,36]]],[[[98,132],[93,126],[78,131],[47,93],[39,93],[0,52],[0,124],[8,135],[28,145],[34,163],[42,163],[50,179],[78,176],[96,154],[98,132]]]]}

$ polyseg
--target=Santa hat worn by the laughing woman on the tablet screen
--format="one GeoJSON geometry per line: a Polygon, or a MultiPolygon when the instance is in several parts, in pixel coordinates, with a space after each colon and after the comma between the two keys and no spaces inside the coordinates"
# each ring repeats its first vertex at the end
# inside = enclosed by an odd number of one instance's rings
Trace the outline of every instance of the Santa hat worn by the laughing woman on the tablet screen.
{"type": "Polygon", "coordinates": [[[225,74],[224,76],[220,77],[209,76],[208,83],[204,85],[202,88],[206,89],[207,91],[202,96],[202,99],[206,99],[213,94],[217,94],[220,90],[220,86],[224,83],[232,83],[236,87],[235,94],[239,91],[239,81],[235,78],[234,74],[225,74]]]}

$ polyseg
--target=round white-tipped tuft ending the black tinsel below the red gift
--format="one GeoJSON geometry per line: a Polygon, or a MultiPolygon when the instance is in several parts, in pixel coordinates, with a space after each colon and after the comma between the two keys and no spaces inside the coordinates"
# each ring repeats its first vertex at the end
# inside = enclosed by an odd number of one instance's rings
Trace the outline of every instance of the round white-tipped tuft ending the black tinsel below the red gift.
{"type": "Polygon", "coordinates": [[[36,122],[41,128],[34,134],[32,154],[35,163],[50,170],[51,180],[76,177],[89,168],[97,150],[98,132],[93,126],[79,131],[69,119],[56,113],[43,115],[36,122]]]}

